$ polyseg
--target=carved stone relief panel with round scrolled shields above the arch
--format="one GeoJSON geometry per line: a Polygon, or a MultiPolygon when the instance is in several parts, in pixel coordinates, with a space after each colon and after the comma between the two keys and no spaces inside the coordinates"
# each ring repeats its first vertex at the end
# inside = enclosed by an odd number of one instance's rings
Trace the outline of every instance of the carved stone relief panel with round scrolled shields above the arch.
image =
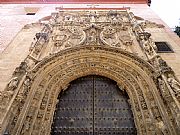
{"type": "MultiPolygon", "coordinates": [[[[64,12],[52,14],[49,25],[45,29],[52,37],[54,46],[51,53],[56,53],[78,45],[100,45],[104,43],[112,47],[123,48],[123,45],[132,45],[130,35],[130,21],[127,12],[117,11],[89,11],[64,12]],[[100,41],[101,40],[101,41],[100,41]],[[102,42],[102,43],[101,43],[102,42]],[[122,45],[121,45],[122,44],[122,45]]],[[[47,33],[37,33],[30,51],[33,57],[38,57],[43,48],[43,41],[47,33]],[[41,36],[40,36],[41,34],[41,36]]],[[[49,40],[47,40],[49,41],[49,40]]],[[[124,47],[125,49],[126,47],[124,47]]]]}

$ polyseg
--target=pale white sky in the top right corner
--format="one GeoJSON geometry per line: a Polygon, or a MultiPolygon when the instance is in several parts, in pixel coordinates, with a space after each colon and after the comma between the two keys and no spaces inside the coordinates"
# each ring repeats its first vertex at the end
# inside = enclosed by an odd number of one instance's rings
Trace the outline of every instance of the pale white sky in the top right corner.
{"type": "Polygon", "coordinates": [[[151,0],[151,9],[170,27],[180,26],[180,0],[151,0]]]}

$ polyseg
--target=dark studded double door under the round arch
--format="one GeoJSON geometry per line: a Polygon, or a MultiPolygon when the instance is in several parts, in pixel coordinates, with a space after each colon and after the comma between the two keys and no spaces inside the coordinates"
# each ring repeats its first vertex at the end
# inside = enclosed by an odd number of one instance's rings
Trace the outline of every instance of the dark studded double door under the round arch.
{"type": "Polygon", "coordinates": [[[128,95],[108,78],[76,79],[58,99],[51,135],[136,134],[128,95]]]}

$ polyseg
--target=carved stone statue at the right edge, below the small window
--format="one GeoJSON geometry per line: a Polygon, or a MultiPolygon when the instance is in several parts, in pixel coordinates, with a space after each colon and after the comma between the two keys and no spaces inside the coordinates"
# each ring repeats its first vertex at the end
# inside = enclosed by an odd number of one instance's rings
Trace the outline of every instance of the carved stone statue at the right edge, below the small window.
{"type": "Polygon", "coordinates": [[[180,83],[174,78],[172,74],[168,74],[167,82],[176,96],[180,96],[180,83]]]}

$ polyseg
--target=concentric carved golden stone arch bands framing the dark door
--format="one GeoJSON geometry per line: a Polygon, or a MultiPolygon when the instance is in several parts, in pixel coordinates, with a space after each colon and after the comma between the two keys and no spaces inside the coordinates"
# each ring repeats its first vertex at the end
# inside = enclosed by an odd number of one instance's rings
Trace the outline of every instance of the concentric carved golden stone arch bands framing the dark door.
{"type": "Polygon", "coordinates": [[[126,90],[138,134],[174,134],[153,73],[147,62],[117,48],[81,46],[53,54],[24,78],[24,82],[31,80],[27,97],[25,102],[18,103],[18,111],[12,113],[8,130],[11,134],[49,135],[60,91],[71,81],[93,74],[110,78],[126,90]]]}

